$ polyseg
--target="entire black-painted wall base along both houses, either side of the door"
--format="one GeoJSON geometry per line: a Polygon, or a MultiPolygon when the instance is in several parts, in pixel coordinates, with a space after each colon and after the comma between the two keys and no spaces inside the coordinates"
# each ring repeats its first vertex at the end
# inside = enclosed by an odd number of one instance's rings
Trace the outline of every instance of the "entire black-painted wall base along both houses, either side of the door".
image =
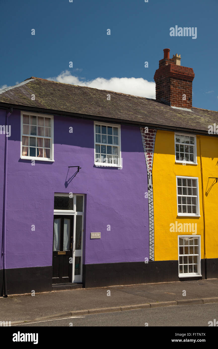
{"type": "MultiPolygon", "coordinates": [[[[218,258],[201,260],[202,277],[178,277],[178,261],[149,261],[83,265],[83,287],[105,287],[140,283],[218,278],[218,258]]],[[[52,291],[52,266],[7,269],[8,295],[52,291]]],[[[3,270],[0,270],[3,296],[3,270]]]]}

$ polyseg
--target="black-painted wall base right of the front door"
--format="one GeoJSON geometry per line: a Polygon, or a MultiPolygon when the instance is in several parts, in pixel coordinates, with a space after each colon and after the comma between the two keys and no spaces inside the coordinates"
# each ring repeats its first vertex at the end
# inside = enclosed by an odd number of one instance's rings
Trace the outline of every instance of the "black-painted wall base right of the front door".
{"type": "Polygon", "coordinates": [[[202,280],[218,278],[218,258],[201,260],[201,277],[178,277],[178,261],[149,261],[83,265],[85,288],[131,285],[153,282],[202,280]],[[206,264],[206,274],[205,274],[206,264]]]}

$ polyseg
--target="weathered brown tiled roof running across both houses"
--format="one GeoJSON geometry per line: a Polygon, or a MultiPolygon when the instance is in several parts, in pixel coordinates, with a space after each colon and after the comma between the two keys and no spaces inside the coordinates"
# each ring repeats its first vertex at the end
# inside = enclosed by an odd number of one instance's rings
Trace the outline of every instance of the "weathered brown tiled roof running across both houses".
{"type": "Polygon", "coordinates": [[[166,104],[113,91],[75,86],[30,77],[23,83],[0,91],[0,106],[35,107],[45,111],[118,119],[141,125],[178,127],[207,132],[218,124],[218,112],[192,108],[185,111],[166,104]],[[35,95],[35,101],[31,95],[35,95]],[[110,101],[107,95],[110,94],[110,101]]]}

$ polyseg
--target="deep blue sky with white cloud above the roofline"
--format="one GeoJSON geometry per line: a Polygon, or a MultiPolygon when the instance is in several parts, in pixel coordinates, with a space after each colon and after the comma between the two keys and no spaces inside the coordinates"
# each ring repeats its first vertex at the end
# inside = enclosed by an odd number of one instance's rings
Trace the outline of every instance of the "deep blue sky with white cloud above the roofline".
{"type": "Polygon", "coordinates": [[[155,98],[154,73],[169,48],[194,69],[192,105],[218,110],[217,0],[0,4],[0,88],[37,76],[155,98]],[[197,27],[197,38],[170,37],[175,25],[197,27]]]}

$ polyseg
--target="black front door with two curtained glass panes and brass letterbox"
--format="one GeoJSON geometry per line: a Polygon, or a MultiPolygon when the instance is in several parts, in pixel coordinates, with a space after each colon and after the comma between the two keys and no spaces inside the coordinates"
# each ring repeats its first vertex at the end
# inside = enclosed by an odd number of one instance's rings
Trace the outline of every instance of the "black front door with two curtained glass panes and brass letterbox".
{"type": "Polygon", "coordinates": [[[72,282],[73,216],[55,215],[52,283],[72,282]]]}

